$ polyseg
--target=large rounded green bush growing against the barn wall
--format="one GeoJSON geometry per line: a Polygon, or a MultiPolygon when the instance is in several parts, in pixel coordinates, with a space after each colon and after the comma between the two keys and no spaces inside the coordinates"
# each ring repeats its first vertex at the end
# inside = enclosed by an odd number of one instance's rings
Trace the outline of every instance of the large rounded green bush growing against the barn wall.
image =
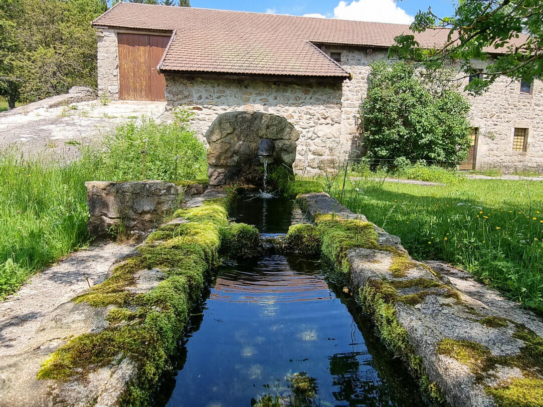
{"type": "Polygon", "coordinates": [[[452,88],[431,89],[414,64],[372,62],[360,109],[367,157],[455,166],[470,147],[469,109],[452,88]]]}

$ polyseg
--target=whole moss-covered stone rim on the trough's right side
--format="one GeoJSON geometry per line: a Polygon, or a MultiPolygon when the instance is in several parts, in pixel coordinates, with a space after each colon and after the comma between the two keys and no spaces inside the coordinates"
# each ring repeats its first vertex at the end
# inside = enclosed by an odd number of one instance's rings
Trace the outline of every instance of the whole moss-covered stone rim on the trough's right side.
{"type": "Polygon", "coordinates": [[[329,222],[326,227],[336,222],[338,232],[327,241],[323,237],[323,252],[327,245],[328,252],[339,253],[332,261],[339,260],[338,270],[346,273],[351,292],[433,403],[543,405],[540,317],[476,283],[465,271],[415,262],[399,238],[327,194],[302,194],[298,201],[317,229],[320,222],[329,222]],[[368,226],[377,237],[357,240],[355,233],[368,226]],[[350,238],[344,233],[349,230],[350,238]]]}

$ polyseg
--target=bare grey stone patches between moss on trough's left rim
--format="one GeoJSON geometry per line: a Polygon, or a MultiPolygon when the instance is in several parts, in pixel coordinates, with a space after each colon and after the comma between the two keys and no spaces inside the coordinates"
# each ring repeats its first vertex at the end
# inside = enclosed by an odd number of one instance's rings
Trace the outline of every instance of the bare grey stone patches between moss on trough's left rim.
{"type": "MultiPolygon", "coordinates": [[[[227,194],[224,189],[210,188],[202,195],[190,199],[187,206],[197,207],[203,205],[207,199],[224,198],[227,194]]],[[[134,256],[138,256],[137,247],[121,262],[134,256]]],[[[111,265],[108,276],[119,264],[115,262],[111,265]]],[[[145,294],[155,288],[164,277],[157,269],[141,270],[136,275],[135,284],[127,289],[145,294]]],[[[108,327],[109,323],[105,318],[112,308],[113,306],[94,308],[84,302],[73,301],[60,304],[48,316],[47,321],[43,321],[37,332],[43,340],[5,363],[12,366],[14,371],[23,369],[36,374],[42,361],[71,338],[85,333],[97,333],[108,327]]],[[[135,363],[125,358],[118,364],[97,368],[89,373],[88,377],[75,375],[67,380],[37,380],[34,376],[31,383],[23,388],[15,388],[0,381],[0,406],[116,406],[130,384],[137,379],[137,374],[135,363]]]]}

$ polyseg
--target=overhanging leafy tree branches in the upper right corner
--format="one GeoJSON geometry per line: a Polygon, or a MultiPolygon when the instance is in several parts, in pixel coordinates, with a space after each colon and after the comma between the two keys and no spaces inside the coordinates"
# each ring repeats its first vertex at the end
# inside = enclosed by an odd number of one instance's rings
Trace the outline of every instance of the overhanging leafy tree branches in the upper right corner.
{"type": "Polygon", "coordinates": [[[516,80],[543,79],[543,2],[541,0],[460,0],[452,17],[438,17],[431,9],[419,11],[411,24],[414,33],[448,30],[443,47],[422,49],[413,35],[396,37],[391,55],[424,62],[439,72],[458,61],[465,75],[473,73],[472,59],[487,60],[483,78],[472,80],[466,90],[481,93],[498,77],[516,80]],[[489,49],[503,55],[489,56],[489,49]]]}

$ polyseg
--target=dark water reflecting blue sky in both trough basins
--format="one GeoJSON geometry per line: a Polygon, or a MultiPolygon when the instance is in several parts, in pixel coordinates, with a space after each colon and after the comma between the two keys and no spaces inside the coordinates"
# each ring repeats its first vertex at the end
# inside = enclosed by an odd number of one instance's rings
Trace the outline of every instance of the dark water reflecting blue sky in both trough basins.
{"type": "MultiPolygon", "coordinates": [[[[293,201],[258,197],[239,199],[231,217],[266,236],[303,219],[293,201]]],[[[318,259],[298,256],[221,266],[156,405],[250,406],[265,395],[296,406],[424,405],[406,368],[331,275],[318,259]],[[293,377],[306,375],[311,397],[293,398],[293,377]]]]}

